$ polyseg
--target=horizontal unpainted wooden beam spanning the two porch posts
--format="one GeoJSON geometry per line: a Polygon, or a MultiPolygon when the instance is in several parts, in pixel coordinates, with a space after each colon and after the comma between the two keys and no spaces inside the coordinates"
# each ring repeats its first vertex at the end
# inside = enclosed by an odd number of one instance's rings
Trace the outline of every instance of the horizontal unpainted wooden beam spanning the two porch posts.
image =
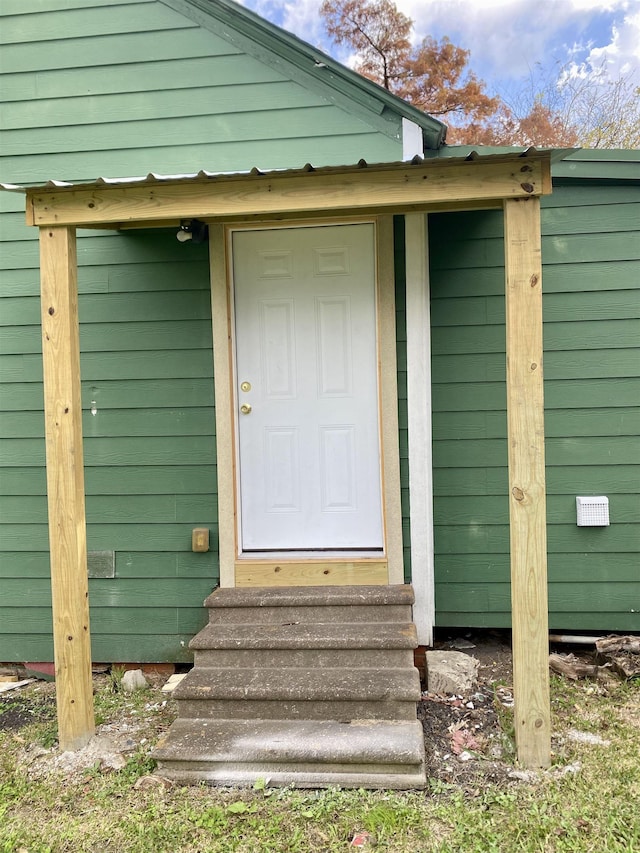
{"type": "Polygon", "coordinates": [[[243,175],[150,178],[27,190],[27,223],[159,226],[281,215],[402,213],[528,198],[551,191],[550,154],[421,161],[243,175]]]}

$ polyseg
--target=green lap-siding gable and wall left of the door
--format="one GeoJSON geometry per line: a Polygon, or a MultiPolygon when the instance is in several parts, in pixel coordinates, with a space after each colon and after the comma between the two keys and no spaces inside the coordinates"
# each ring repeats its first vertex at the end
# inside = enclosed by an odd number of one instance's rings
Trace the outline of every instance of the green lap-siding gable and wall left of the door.
{"type": "MultiPolygon", "coordinates": [[[[178,7],[189,4],[3,0],[0,180],[402,158],[400,114],[368,108],[370,95],[348,109],[246,34],[178,7]]],[[[42,661],[39,257],[19,194],[0,192],[0,240],[0,661],[42,661]]],[[[218,580],[207,249],[175,231],[92,231],[78,255],[88,548],[115,552],[115,576],[90,580],[93,658],[186,659],[218,580]],[[200,526],[207,554],[191,551],[200,526]]]]}

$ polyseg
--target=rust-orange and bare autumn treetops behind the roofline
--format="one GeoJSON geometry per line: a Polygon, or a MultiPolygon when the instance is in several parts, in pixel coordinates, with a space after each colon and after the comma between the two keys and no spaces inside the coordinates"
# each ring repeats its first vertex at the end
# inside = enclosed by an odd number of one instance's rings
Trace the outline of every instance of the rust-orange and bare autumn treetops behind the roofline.
{"type": "Polygon", "coordinates": [[[356,71],[447,121],[448,141],[469,145],[640,147],[640,88],[590,63],[537,64],[515,93],[491,97],[469,69],[468,50],[430,36],[412,45],[413,21],[393,0],[324,0],[338,44],[356,71]]]}

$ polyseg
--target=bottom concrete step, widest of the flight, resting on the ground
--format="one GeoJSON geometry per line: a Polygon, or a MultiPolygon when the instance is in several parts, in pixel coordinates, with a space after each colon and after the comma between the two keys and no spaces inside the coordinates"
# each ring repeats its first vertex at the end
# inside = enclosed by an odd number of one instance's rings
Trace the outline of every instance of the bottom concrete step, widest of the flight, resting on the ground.
{"type": "Polygon", "coordinates": [[[299,787],[424,786],[417,720],[177,720],[154,751],[158,774],[182,782],[299,787]]]}

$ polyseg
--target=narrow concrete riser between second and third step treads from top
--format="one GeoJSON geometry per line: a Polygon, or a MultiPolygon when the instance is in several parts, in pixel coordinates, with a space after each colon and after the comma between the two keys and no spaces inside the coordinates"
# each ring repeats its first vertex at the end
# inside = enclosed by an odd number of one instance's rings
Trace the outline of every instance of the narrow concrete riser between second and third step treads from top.
{"type": "Polygon", "coordinates": [[[413,649],[196,649],[194,666],[263,669],[306,667],[334,669],[341,666],[364,669],[400,669],[413,666],[413,649]]]}

